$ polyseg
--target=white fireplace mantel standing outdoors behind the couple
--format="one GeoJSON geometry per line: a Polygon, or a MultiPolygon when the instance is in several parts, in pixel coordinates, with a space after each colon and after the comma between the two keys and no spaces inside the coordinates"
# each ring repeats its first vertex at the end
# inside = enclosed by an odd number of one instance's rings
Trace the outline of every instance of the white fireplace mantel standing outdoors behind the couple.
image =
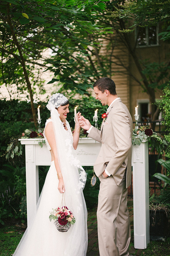
{"type": "MultiPolygon", "coordinates": [[[[25,145],[27,224],[36,213],[39,199],[38,166],[51,164],[51,154],[46,144],[38,145],[42,139],[20,139],[25,145]]],[[[77,155],[82,166],[93,166],[99,154],[101,144],[91,138],[80,138],[77,155]]],[[[134,248],[145,249],[149,243],[149,174],[148,142],[133,146],[133,196],[134,196],[134,248]]]]}

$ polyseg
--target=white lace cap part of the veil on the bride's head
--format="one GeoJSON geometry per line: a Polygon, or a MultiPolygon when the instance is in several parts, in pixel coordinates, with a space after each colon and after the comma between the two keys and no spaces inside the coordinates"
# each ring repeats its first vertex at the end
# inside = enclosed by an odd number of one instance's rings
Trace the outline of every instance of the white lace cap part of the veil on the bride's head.
{"type": "Polygon", "coordinates": [[[62,93],[55,93],[49,99],[47,108],[48,110],[52,111],[53,109],[65,104],[67,101],[68,99],[62,93]]]}

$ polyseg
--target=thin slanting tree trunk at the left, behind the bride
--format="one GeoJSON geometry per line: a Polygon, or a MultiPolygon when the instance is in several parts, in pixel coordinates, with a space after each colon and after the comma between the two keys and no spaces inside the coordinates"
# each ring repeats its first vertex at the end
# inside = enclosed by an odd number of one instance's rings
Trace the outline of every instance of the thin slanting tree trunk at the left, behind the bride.
{"type": "Polygon", "coordinates": [[[23,73],[24,73],[24,76],[25,76],[25,81],[27,83],[27,88],[28,88],[28,91],[29,91],[29,94],[30,94],[31,109],[32,109],[32,115],[33,115],[33,119],[34,119],[34,125],[37,128],[38,123],[37,123],[37,118],[36,118],[35,106],[34,106],[34,102],[33,102],[33,93],[32,93],[31,83],[29,81],[28,73],[27,73],[27,70],[26,70],[26,67],[25,67],[25,61],[24,61],[23,54],[22,54],[22,51],[21,51],[21,46],[19,45],[19,42],[18,42],[18,40],[15,36],[14,28],[12,26],[11,17],[10,17],[10,4],[9,3],[7,4],[7,22],[10,26],[11,34],[12,34],[12,37],[14,39],[15,45],[17,46],[17,49],[19,51],[20,63],[23,67],[23,73]]]}

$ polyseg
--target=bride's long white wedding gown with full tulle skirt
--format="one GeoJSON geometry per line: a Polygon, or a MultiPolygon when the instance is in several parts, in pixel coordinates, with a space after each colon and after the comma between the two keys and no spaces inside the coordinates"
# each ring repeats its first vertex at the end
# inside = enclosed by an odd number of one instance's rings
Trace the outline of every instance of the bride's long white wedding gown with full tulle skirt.
{"type": "MultiPolygon", "coordinates": [[[[48,119],[46,124],[50,121],[51,119],[48,119]]],[[[60,165],[66,189],[66,206],[73,213],[76,222],[67,232],[59,232],[54,225],[54,220],[49,221],[49,212],[52,208],[60,207],[62,201],[62,194],[57,189],[57,171],[52,161],[37,204],[36,216],[25,231],[13,256],[86,255],[87,208],[82,190],[86,174],[83,169],[80,169],[82,167],[79,166],[79,161],[74,155],[73,136],[67,121],[66,125],[68,131],[63,131],[65,137],[62,138],[63,147],[66,149],[64,148],[65,153],[60,159],[60,165]]],[[[50,149],[47,139],[46,144],[50,149]]]]}

